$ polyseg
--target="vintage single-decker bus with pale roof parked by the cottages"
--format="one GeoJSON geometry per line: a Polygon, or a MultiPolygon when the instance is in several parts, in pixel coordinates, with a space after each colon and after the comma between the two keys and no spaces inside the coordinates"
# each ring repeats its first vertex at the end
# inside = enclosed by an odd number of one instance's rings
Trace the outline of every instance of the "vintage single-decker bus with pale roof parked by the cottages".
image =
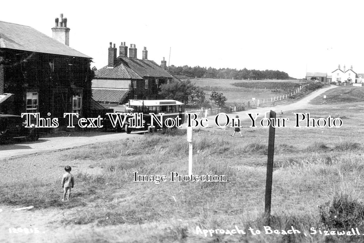
{"type": "Polygon", "coordinates": [[[141,128],[131,128],[131,123],[136,123],[130,118],[125,125],[125,132],[130,133],[132,130],[148,130],[154,132],[157,129],[163,128],[177,128],[176,119],[179,119],[179,125],[185,121],[185,104],[175,100],[140,100],[131,99],[126,104],[130,108],[131,113],[143,113],[143,126],[141,128]],[[153,113],[154,115],[151,115],[153,113]],[[163,113],[162,116],[159,113],[163,113]],[[153,119],[154,128],[151,127],[153,119]],[[156,122],[158,119],[159,123],[156,122]]]}

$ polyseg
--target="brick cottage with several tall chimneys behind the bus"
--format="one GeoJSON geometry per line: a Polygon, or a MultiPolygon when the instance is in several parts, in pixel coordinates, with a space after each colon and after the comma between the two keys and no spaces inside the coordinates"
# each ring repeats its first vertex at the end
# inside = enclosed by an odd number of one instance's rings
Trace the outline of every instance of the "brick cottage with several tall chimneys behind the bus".
{"type": "Polygon", "coordinates": [[[166,61],[163,58],[161,66],[148,60],[148,51],[144,47],[142,59],[137,58],[135,44],[128,47],[125,42],[117,49],[108,48],[107,66],[95,71],[92,80],[92,97],[104,105],[119,105],[128,99],[159,99],[159,87],[173,81],[174,77],[166,71],[166,61]]]}

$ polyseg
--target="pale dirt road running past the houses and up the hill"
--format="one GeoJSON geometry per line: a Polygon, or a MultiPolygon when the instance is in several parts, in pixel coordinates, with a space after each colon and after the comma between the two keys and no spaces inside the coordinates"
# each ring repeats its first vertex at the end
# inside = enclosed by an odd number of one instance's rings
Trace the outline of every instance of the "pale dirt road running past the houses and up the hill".
{"type": "MultiPolygon", "coordinates": [[[[288,110],[296,110],[296,109],[306,109],[312,107],[313,105],[309,105],[309,101],[318,95],[326,92],[329,89],[333,89],[336,86],[330,86],[324,89],[320,89],[317,91],[312,92],[311,94],[307,95],[306,97],[302,98],[301,100],[292,103],[290,105],[285,106],[275,106],[275,107],[264,107],[252,110],[245,110],[240,111],[237,113],[229,114],[229,117],[233,118],[235,115],[239,115],[241,119],[248,119],[248,113],[259,113],[261,116],[264,116],[264,113],[269,110],[276,110],[277,112],[288,111],[288,110]]],[[[213,121],[215,116],[207,117],[209,120],[209,125],[213,125],[213,121]]],[[[225,117],[219,118],[219,124],[224,123],[226,121],[225,117]]],[[[37,142],[17,142],[15,144],[8,144],[8,145],[0,145],[0,160],[5,160],[9,158],[25,156],[28,154],[35,154],[35,153],[43,153],[43,152],[52,152],[57,150],[65,150],[71,149],[79,146],[96,144],[96,143],[103,143],[103,142],[110,142],[116,140],[122,140],[125,138],[132,138],[141,136],[140,133],[134,134],[126,134],[126,133],[112,133],[112,134],[105,134],[99,136],[91,136],[91,137],[52,137],[52,138],[40,138],[37,142]]]]}

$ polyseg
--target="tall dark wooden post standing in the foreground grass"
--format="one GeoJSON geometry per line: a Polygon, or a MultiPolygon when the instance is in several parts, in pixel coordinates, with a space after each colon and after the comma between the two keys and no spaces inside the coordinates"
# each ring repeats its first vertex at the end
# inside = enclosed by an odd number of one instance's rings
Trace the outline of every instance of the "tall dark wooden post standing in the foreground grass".
{"type": "MultiPolygon", "coordinates": [[[[269,118],[276,119],[276,113],[271,110],[269,118]]],[[[268,220],[268,224],[270,218],[270,204],[272,200],[274,137],[276,133],[276,129],[273,127],[272,124],[273,122],[271,120],[269,126],[269,137],[268,137],[268,161],[267,161],[267,176],[265,184],[265,207],[264,207],[264,216],[268,220]]]]}

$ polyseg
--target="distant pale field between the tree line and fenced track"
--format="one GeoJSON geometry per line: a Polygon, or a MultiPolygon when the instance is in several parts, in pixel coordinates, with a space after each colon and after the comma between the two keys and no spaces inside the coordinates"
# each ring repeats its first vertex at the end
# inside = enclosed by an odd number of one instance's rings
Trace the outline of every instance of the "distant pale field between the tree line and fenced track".
{"type": "Polygon", "coordinates": [[[191,82],[203,88],[206,92],[206,99],[209,100],[211,90],[215,89],[219,93],[223,93],[229,103],[252,102],[252,98],[263,99],[267,105],[271,105],[270,98],[280,97],[286,92],[286,86],[300,86],[304,82],[297,80],[272,80],[272,81],[241,81],[232,79],[191,79],[191,82]],[[277,89],[276,89],[277,88],[277,89]]]}

